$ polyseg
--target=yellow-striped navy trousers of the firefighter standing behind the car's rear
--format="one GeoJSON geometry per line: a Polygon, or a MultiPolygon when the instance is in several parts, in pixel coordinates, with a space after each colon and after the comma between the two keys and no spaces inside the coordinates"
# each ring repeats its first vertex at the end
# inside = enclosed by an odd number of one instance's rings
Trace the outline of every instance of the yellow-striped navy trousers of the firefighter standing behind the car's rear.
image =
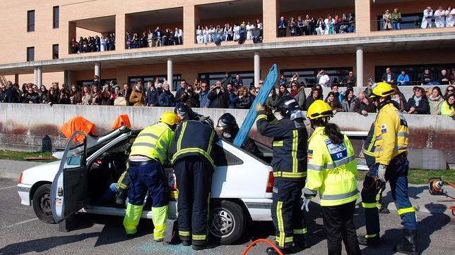
{"type": "Polygon", "coordinates": [[[273,181],[271,214],[275,225],[275,242],[280,249],[293,246],[293,242],[303,240],[307,231],[305,216],[301,209],[302,189],[305,178],[273,181]]]}

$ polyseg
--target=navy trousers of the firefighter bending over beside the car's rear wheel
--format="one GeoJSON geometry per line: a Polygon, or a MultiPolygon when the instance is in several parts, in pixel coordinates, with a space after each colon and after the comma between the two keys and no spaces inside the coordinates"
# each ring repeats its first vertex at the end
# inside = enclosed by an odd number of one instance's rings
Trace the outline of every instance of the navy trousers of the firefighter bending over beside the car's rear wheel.
{"type": "Polygon", "coordinates": [[[185,157],[175,162],[177,181],[177,221],[180,240],[204,245],[207,241],[208,204],[213,170],[199,157],[185,157]]]}

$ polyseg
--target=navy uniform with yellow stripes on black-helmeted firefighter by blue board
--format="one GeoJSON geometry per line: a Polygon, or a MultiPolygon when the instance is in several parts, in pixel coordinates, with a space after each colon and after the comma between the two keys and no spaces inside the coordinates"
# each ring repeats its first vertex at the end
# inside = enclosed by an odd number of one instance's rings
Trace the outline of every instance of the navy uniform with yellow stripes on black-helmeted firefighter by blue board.
{"type": "Polygon", "coordinates": [[[300,210],[302,188],[307,176],[308,134],[303,123],[289,118],[276,122],[265,111],[259,111],[256,126],[261,135],[273,137],[273,225],[275,241],[280,249],[293,246],[293,242],[305,240],[307,227],[300,210]],[[268,120],[271,120],[270,122],[268,120]]]}

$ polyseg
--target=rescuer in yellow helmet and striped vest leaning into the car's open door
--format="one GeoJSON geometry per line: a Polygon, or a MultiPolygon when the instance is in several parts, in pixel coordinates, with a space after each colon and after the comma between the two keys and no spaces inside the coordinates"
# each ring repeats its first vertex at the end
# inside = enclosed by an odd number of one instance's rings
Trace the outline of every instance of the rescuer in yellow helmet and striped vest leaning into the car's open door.
{"type": "Polygon", "coordinates": [[[130,185],[128,205],[123,225],[126,235],[136,234],[147,192],[152,199],[152,220],[155,229],[153,239],[164,238],[165,221],[169,208],[169,184],[164,165],[169,161],[167,150],[174,138],[177,115],[171,111],[162,113],[160,121],[144,128],[131,146],[128,158],[130,185]]]}

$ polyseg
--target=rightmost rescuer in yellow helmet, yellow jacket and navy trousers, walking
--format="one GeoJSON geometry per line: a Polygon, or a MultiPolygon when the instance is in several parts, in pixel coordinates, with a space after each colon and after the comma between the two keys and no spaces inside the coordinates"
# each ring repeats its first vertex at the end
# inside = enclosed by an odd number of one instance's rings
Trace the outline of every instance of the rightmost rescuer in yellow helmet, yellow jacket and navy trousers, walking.
{"type": "Polygon", "coordinates": [[[376,207],[377,187],[390,182],[392,197],[403,224],[403,242],[395,249],[406,254],[418,254],[417,221],[408,197],[408,136],[409,128],[403,113],[394,106],[394,89],[379,82],[371,97],[379,109],[374,122],[375,164],[367,173],[362,189],[367,235],[359,237],[362,245],[379,244],[379,216],[376,207]]]}

